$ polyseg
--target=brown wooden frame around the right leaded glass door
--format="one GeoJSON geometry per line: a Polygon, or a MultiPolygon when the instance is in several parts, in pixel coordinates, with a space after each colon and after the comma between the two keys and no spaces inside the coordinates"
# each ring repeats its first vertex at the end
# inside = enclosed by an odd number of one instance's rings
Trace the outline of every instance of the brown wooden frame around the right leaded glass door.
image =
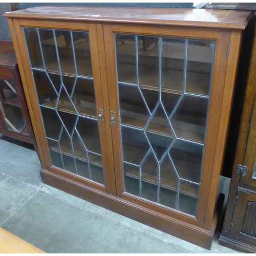
{"type": "MultiPolygon", "coordinates": [[[[217,40],[216,46],[216,59],[214,63],[214,77],[212,79],[212,84],[215,84],[214,90],[214,97],[211,96],[210,99],[210,108],[213,102],[220,102],[218,103],[216,109],[213,110],[209,108],[209,113],[211,120],[208,121],[207,124],[207,134],[215,133],[215,136],[209,139],[206,137],[205,148],[208,147],[208,152],[205,153],[205,158],[207,158],[207,163],[204,163],[205,169],[207,172],[202,173],[202,181],[201,188],[200,188],[200,198],[199,198],[199,216],[198,220],[195,218],[191,218],[190,216],[186,216],[184,214],[180,214],[179,212],[169,211],[169,216],[174,218],[178,218],[184,220],[188,223],[198,225],[201,227],[210,230],[212,228],[212,221],[216,219],[213,212],[215,211],[216,201],[217,201],[217,189],[218,189],[218,180],[222,165],[222,154],[224,151],[225,140],[226,140],[226,130],[228,125],[229,119],[229,109],[231,104],[232,92],[233,92],[233,84],[234,84],[234,77],[231,75],[236,72],[236,69],[233,69],[233,63],[238,59],[238,53],[235,54],[232,49],[237,49],[237,41],[240,43],[241,31],[237,33],[236,31],[230,30],[215,30],[215,29],[187,29],[179,27],[158,27],[158,26],[134,26],[134,25],[124,25],[124,24],[111,24],[111,23],[104,23],[104,40],[105,40],[105,52],[106,52],[106,60],[110,61],[111,63],[115,63],[115,49],[114,49],[114,33],[131,33],[131,34],[139,34],[139,35],[157,35],[157,36],[176,36],[176,37],[191,37],[191,38],[199,38],[199,39],[208,39],[208,40],[217,40]],[[233,35],[233,36],[231,36],[233,35]],[[230,42],[231,37],[231,53],[229,58],[227,58],[226,48],[228,42],[230,42]],[[222,39],[221,39],[222,38],[222,39]],[[220,40],[223,40],[223,46],[221,46],[220,40]],[[226,46],[224,46],[225,44],[226,46]],[[218,45],[219,44],[219,45],[218,45]],[[217,65],[216,63],[219,63],[217,65]],[[221,64],[220,64],[221,63],[221,64]],[[226,75],[226,63],[227,63],[227,77],[226,75]],[[224,68],[224,69],[223,69],[224,68]],[[232,70],[231,70],[232,69],[232,70]],[[230,74],[231,73],[231,74],[230,74]],[[220,89],[220,84],[222,84],[222,89],[220,89]],[[224,90],[225,89],[225,90],[224,90]],[[210,123],[210,124],[209,124],[210,123]],[[211,128],[209,128],[211,127],[211,128]],[[218,136],[216,131],[218,131],[218,136]],[[215,131],[215,132],[214,132],[215,131]],[[211,140],[209,142],[208,140],[211,140]],[[217,142],[215,142],[217,141],[217,142]],[[209,146],[209,145],[215,146],[209,146]],[[216,152],[215,152],[216,148],[216,152]],[[211,151],[211,152],[210,152],[211,151]],[[214,153],[212,153],[214,152],[214,153]],[[212,161],[212,159],[217,159],[214,155],[218,156],[218,161],[212,161]],[[206,157],[207,155],[207,157],[206,157]],[[214,162],[214,163],[213,163],[214,162]],[[208,175],[210,174],[210,175],[208,175]],[[206,203],[207,202],[207,203],[206,203]],[[206,216],[206,217],[205,217],[206,216]]],[[[122,181],[122,164],[121,164],[121,144],[120,144],[120,120],[119,120],[119,110],[118,110],[118,97],[117,97],[117,88],[115,84],[117,84],[116,80],[116,64],[114,65],[107,65],[107,72],[108,72],[108,82],[109,82],[109,97],[110,97],[110,109],[116,112],[117,122],[116,125],[112,126],[112,138],[115,138],[114,145],[114,162],[115,162],[115,175],[116,180],[122,181]],[[115,153],[117,152],[117,153],[115,153]],[[119,154],[118,156],[115,154],[119,154]]],[[[206,160],[205,160],[206,161],[206,160]]],[[[127,197],[123,197],[122,195],[123,184],[117,184],[117,195],[121,198],[127,200],[127,197]]],[[[217,195],[218,196],[218,195],[217,195]]],[[[138,202],[137,202],[138,203],[138,202]]],[[[148,207],[147,203],[141,202],[144,207],[148,207]]],[[[151,209],[156,210],[153,205],[151,205],[151,209]]],[[[164,214],[167,214],[165,210],[163,210],[164,214]]]]}

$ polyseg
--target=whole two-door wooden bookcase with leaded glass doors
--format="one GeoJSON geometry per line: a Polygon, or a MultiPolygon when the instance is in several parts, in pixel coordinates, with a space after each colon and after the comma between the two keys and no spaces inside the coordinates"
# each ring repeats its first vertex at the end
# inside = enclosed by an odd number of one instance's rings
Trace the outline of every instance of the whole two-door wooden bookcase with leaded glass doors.
{"type": "Polygon", "coordinates": [[[42,180],[210,249],[253,14],[45,6],[5,16],[42,180]]]}

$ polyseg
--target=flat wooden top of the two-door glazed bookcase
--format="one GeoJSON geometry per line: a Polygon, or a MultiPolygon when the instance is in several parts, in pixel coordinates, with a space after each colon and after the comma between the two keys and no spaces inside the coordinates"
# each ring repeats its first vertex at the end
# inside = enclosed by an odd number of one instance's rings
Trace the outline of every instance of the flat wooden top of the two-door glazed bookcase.
{"type": "Polygon", "coordinates": [[[153,7],[38,6],[5,17],[245,29],[251,11],[153,7]]]}

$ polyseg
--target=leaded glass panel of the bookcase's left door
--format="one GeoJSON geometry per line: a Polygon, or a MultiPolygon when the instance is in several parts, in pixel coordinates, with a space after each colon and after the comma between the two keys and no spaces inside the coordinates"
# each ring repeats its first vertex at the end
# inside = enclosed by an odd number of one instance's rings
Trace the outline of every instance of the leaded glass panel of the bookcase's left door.
{"type": "Polygon", "coordinates": [[[20,31],[32,72],[31,90],[39,103],[40,118],[35,118],[37,130],[41,124],[45,134],[40,143],[46,164],[53,172],[110,193],[108,159],[103,163],[102,156],[102,147],[107,147],[96,26],[33,25],[20,31]]]}

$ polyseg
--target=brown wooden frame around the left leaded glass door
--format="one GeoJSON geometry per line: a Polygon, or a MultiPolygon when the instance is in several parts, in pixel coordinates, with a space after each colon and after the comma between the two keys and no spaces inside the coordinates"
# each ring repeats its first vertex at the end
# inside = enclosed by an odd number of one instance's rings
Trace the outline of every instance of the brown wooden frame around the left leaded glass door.
{"type": "MultiPolygon", "coordinates": [[[[72,179],[76,182],[91,186],[95,189],[99,189],[102,192],[106,192],[108,194],[111,194],[111,180],[109,175],[109,163],[108,163],[108,145],[106,145],[106,134],[105,134],[105,124],[104,122],[98,121],[99,126],[99,134],[100,134],[100,143],[102,148],[102,163],[103,163],[103,172],[104,172],[104,180],[105,180],[105,187],[103,185],[98,185],[95,182],[92,182],[90,180],[83,179],[82,177],[78,177],[76,175],[73,175],[72,173],[63,171],[62,169],[58,167],[52,167],[51,166],[51,158],[48,151],[48,144],[47,140],[45,138],[45,131],[44,126],[42,124],[41,117],[38,116],[38,113],[40,113],[39,110],[39,104],[36,96],[36,90],[34,88],[34,81],[33,81],[33,75],[31,73],[30,69],[30,60],[29,55],[27,53],[26,49],[26,43],[25,43],[25,37],[23,34],[23,27],[31,27],[31,28],[42,28],[42,29],[59,29],[59,30],[73,30],[73,31],[90,31],[90,50],[91,50],[91,58],[92,58],[92,67],[93,67],[93,77],[94,77],[94,89],[95,89],[95,98],[96,98],[96,106],[97,109],[104,109],[104,102],[102,100],[102,84],[101,84],[101,76],[100,76],[100,63],[99,63],[99,55],[98,55],[98,44],[97,44],[97,38],[100,37],[99,32],[96,29],[96,23],[92,22],[61,22],[59,20],[55,21],[49,21],[49,20],[26,20],[26,19],[13,19],[9,20],[11,33],[14,38],[13,44],[16,46],[15,49],[19,49],[19,51],[16,51],[17,60],[18,63],[21,63],[19,65],[20,67],[20,76],[22,77],[22,81],[24,84],[24,92],[26,95],[26,99],[28,102],[28,109],[31,116],[32,125],[34,127],[35,131],[35,138],[39,149],[39,156],[42,162],[42,169],[48,169],[51,170],[51,172],[54,172],[56,174],[62,175],[63,177],[66,177],[68,179],[72,179]],[[12,25],[13,22],[13,25],[12,25]],[[13,27],[16,30],[13,29],[13,27]],[[95,86],[96,84],[96,86],[95,86]]],[[[102,37],[102,35],[101,35],[102,37]]],[[[104,100],[105,101],[105,100],[104,100]]],[[[114,191],[115,193],[115,191],[114,191]]]]}

